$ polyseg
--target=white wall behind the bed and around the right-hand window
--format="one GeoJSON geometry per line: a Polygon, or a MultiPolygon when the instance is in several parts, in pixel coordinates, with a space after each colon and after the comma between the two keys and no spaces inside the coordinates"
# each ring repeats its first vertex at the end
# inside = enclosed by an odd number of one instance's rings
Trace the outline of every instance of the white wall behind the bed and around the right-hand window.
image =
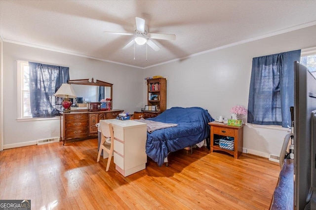
{"type": "MultiPolygon", "coordinates": [[[[252,58],[313,47],[315,37],[313,26],[152,67],[144,71],[144,77],[167,77],[167,108],[201,106],[213,118],[229,118],[232,106],[248,106],[252,58]]],[[[288,131],[246,125],[243,147],[248,153],[264,157],[279,155],[288,131]]]]}

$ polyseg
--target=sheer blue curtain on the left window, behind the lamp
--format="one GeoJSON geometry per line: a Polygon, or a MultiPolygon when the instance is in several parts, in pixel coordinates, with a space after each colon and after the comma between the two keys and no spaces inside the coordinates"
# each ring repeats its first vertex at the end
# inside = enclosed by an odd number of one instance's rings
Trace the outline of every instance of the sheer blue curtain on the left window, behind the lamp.
{"type": "Polygon", "coordinates": [[[29,62],[30,101],[32,117],[58,116],[62,99],[54,94],[62,83],[67,83],[69,67],[59,67],[29,62]]]}

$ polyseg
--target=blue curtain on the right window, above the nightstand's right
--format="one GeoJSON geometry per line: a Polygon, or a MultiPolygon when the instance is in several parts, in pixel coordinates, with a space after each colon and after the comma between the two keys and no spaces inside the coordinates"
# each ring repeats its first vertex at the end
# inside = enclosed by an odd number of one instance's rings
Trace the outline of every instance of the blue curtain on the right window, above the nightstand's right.
{"type": "Polygon", "coordinates": [[[248,123],[291,126],[294,106],[294,61],[301,50],[252,59],[248,123]]]}

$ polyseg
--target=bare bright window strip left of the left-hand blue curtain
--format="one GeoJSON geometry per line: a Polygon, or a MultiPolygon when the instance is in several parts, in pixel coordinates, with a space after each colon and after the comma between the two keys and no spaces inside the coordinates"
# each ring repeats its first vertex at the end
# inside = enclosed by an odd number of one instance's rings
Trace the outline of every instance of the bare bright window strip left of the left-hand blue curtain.
{"type": "Polygon", "coordinates": [[[31,118],[29,62],[18,61],[18,118],[31,118]]]}

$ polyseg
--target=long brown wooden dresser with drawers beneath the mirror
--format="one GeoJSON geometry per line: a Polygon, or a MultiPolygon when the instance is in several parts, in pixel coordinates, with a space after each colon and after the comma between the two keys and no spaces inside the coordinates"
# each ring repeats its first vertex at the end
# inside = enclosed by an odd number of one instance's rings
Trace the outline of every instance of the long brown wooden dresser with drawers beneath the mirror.
{"type": "Polygon", "coordinates": [[[114,119],[121,113],[121,109],[110,111],[71,111],[62,114],[61,140],[85,140],[97,138],[97,124],[100,120],[114,119]]]}

